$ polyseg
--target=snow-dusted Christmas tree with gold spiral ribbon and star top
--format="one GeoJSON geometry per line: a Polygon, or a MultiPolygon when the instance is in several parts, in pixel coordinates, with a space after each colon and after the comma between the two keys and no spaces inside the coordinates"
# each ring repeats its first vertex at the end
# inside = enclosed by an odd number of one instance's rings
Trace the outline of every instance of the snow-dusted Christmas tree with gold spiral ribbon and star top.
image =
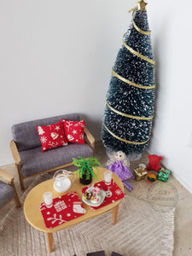
{"type": "Polygon", "coordinates": [[[148,146],[154,115],[154,60],[143,0],[132,11],[112,69],[103,116],[102,141],[109,151],[141,154],[148,146]]]}

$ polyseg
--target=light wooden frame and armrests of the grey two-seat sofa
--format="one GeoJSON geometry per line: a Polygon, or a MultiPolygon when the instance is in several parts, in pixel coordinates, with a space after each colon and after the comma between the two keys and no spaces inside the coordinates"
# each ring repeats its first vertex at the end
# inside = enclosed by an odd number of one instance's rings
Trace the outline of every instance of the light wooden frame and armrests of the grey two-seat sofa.
{"type": "MultiPolygon", "coordinates": [[[[88,129],[86,127],[84,127],[84,140],[86,141],[86,143],[88,143],[90,145],[90,148],[93,149],[93,156],[95,156],[95,138],[91,135],[90,131],[88,131],[88,129]]],[[[49,169],[47,171],[38,172],[37,174],[33,174],[31,176],[24,177],[22,175],[22,172],[21,172],[20,153],[17,149],[17,146],[16,146],[14,140],[12,140],[10,142],[10,149],[11,149],[11,152],[12,152],[14,160],[15,160],[15,166],[17,167],[18,175],[19,175],[19,178],[20,178],[20,189],[22,189],[22,190],[25,189],[23,180],[26,179],[27,177],[33,177],[33,176],[37,176],[38,174],[43,174],[43,173],[46,173],[46,172],[53,172],[53,171],[56,171],[58,169],[65,168],[67,166],[73,166],[73,163],[68,163],[64,166],[57,166],[57,167],[49,169]]]]}

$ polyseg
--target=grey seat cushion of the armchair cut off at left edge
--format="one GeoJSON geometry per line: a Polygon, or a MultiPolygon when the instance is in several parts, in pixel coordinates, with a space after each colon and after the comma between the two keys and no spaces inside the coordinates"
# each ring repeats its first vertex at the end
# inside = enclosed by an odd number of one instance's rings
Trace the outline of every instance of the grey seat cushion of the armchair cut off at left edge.
{"type": "Polygon", "coordinates": [[[0,208],[15,198],[15,191],[11,185],[0,181],[0,208]]]}

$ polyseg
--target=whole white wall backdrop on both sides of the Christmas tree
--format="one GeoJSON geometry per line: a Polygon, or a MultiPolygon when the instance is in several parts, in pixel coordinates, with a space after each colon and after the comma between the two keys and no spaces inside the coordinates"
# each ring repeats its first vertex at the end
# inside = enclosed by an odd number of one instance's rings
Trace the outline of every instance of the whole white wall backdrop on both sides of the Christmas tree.
{"type": "MultiPolygon", "coordinates": [[[[192,3],[148,1],[157,62],[150,152],[192,191],[192,3]]],[[[78,112],[101,138],[111,68],[133,0],[0,2],[0,165],[13,163],[11,125],[78,112]]]]}

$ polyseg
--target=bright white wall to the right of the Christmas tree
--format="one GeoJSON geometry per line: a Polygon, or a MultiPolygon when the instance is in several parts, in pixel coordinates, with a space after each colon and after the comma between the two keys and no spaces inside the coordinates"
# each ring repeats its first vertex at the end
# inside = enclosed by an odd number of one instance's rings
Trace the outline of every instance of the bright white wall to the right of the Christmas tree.
{"type": "Polygon", "coordinates": [[[192,3],[151,1],[148,20],[157,61],[157,100],[150,152],[192,192],[192,3]],[[184,8],[183,8],[184,6],[184,8]]]}

